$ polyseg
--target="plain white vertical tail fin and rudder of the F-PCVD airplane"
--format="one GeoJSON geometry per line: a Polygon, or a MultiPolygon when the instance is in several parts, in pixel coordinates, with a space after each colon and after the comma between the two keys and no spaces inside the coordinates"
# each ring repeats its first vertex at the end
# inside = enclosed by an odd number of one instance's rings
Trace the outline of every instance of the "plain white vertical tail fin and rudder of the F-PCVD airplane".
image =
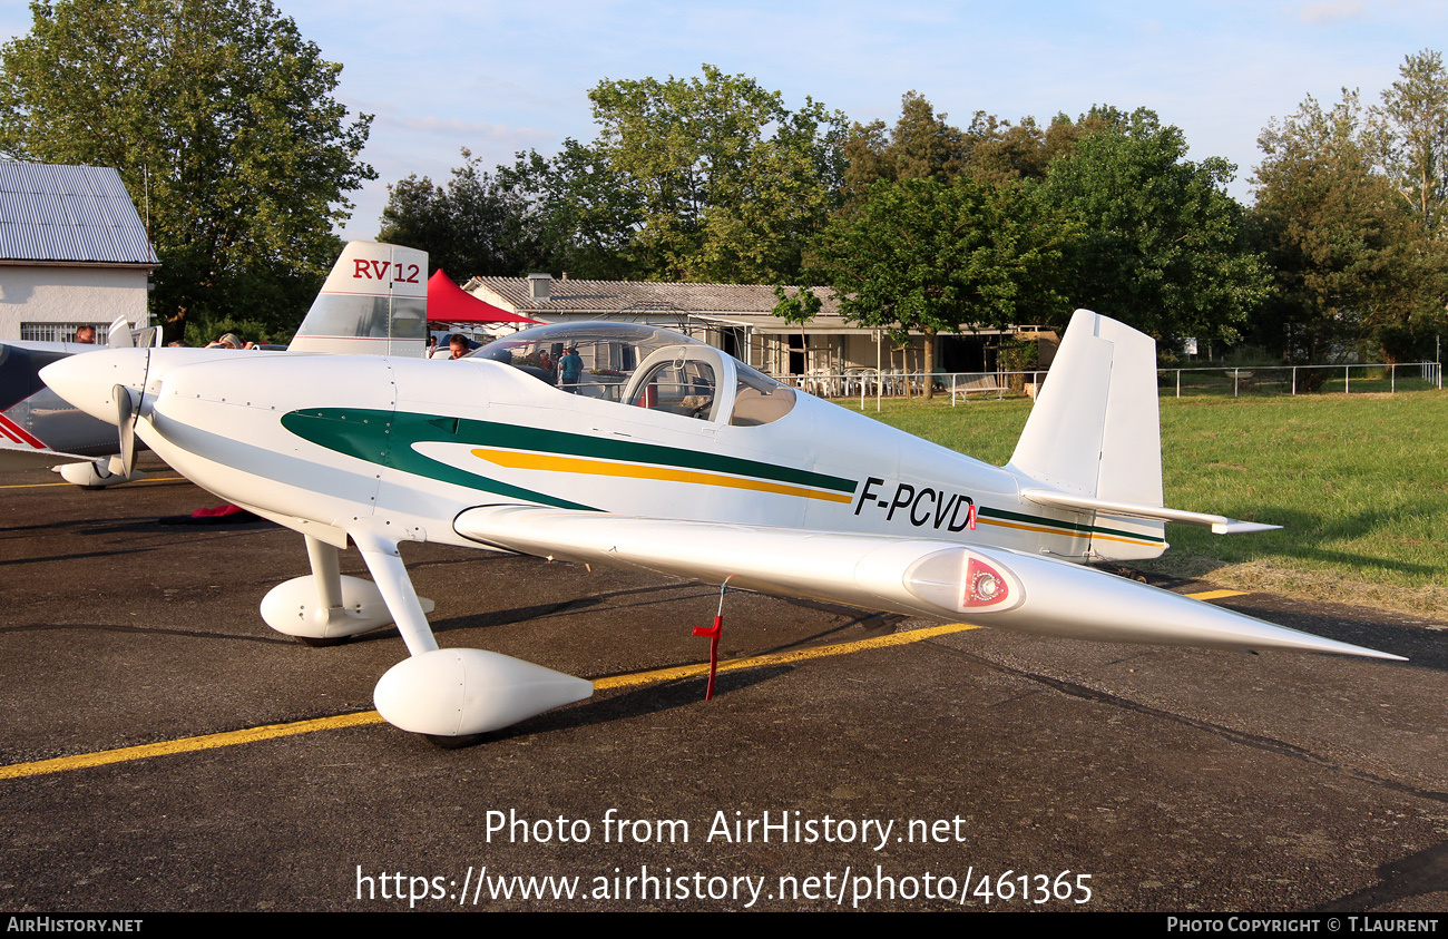
{"type": "MultiPolygon", "coordinates": [[[[1102,501],[1161,506],[1157,346],[1114,319],[1076,310],[1009,467],[1044,487],[1102,501]]],[[[1095,514],[1111,527],[1160,542],[1163,523],[1095,514]]],[[[1108,558],[1161,554],[1158,546],[1096,536],[1108,558]]]]}

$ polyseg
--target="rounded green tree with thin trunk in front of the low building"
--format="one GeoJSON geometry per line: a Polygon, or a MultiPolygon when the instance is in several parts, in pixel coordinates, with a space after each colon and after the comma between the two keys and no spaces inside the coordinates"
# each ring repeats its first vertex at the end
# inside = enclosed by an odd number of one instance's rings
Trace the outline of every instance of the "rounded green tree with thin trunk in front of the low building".
{"type": "Polygon", "coordinates": [[[1066,236],[1024,185],[880,181],[811,242],[807,275],[846,319],[901,345],[924,335],[931,372],[937,333],[1063,319],[1050,284],[1066,236]]]}

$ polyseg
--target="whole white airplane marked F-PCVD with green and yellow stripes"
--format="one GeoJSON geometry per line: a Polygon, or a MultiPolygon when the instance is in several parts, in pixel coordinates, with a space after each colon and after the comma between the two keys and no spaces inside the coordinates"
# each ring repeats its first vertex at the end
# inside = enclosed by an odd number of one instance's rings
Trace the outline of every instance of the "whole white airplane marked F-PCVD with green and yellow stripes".
{"type": "MultiPolygon", "coordinates": [[[[343,275],[375,288],[387,271],[343,275]]],[[[346,319],[361,297],[336,296],[346,319]]],[[[43,378],[116,423],[125,454],[139,436],[197,484],[300,532],[311,574],[275,587],[262,617],[311,643],[395,623],[411,658],[374,700],[434,739],[508,726],[592,684],[439,649],[404,542],[1077,639],[1399,658],[1080,564],[1156,556],[1164,522],[1274,527],[1163,507],[1154,343],[1086,310],[1005,467],[624,323],[529,329],[460,361],[133,349],[43,378]],[[339,574],[349,543],[375,583],[339,574]]]]}

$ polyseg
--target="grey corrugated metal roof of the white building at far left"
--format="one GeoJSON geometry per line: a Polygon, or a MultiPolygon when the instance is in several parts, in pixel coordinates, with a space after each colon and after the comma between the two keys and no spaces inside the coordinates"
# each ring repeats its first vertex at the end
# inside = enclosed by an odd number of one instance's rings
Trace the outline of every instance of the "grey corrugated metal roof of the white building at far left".
{"type": "Polygon", "coordinates": [[[0,261],[156,265],[110,167],[0,162],[0,261]]]}

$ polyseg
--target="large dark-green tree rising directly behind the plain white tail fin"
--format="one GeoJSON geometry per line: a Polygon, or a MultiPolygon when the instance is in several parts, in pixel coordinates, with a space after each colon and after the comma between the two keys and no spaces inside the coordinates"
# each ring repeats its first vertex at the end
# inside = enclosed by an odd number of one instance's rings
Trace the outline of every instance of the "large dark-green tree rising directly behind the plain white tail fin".
{"type": "Polygon", "coordinates": [[[1056,158],[1040,194],[1079,226],[1066,258],[1073,306],[1157,339],[1235,339],[1270,275],[1225,191],[1235,167],[1192,162],[1186,151],[1182,130],[1138,109],[1125,128],[1089,132],[1056,158]]]}

